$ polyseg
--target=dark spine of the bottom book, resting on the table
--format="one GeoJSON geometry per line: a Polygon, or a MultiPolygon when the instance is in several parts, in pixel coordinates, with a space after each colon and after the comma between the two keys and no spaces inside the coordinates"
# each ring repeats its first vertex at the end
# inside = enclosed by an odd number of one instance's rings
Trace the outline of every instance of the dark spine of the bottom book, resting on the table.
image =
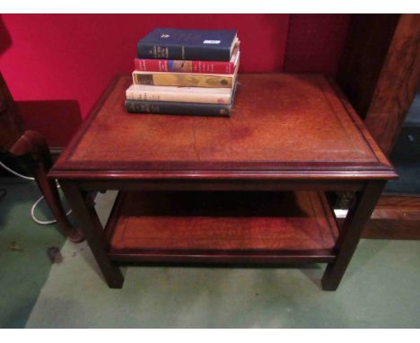
{"type": "Polygon", "coordinates": [[[229,117],[232,105],[171,101],[127,100],[130,113],[176,114],[186,116],[229,117]]]}

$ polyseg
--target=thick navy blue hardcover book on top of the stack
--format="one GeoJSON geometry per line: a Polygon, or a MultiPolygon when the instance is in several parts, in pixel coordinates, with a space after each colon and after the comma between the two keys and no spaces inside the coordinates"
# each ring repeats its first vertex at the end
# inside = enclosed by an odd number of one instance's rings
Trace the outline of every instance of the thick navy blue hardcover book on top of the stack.
{"type": "Polygon", "coordinates": [[[137,43],[139,58],[229,61],[236,30],[155,29],[137,43]]]}

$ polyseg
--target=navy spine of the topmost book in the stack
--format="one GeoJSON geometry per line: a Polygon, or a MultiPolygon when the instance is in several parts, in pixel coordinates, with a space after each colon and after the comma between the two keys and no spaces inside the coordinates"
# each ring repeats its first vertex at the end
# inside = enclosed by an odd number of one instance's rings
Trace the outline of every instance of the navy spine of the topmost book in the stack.
{"type": "Polygon", "coordinates": [[[230,48],[194,47],[153,45],[151,43],[137,43],[138,58],[165,58],[202,61],[229,61],[230,48]]]}

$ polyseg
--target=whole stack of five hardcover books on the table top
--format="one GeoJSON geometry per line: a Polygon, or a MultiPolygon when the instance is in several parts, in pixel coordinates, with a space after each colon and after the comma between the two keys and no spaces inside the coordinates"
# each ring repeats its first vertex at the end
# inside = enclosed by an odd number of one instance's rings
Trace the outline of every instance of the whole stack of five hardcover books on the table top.
{"type": "Polygon", "coordinates": [[[229,117],[239,60],[235,30],[156,29],[137,43],[126,109],[229,117]]]}

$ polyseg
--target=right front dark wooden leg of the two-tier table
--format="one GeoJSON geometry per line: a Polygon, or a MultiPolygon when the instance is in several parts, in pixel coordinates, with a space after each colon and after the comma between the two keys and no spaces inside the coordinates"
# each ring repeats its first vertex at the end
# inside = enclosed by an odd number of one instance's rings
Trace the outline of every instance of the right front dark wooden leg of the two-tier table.
{"type": "Polygon", "coordinates": [[[335,291],[340,284],[362,235],[363,225],[372,215],[385,183],[386,181],[382,180],[369,181],[365,188],[356,194],[354,204],[348,211],[337,239],[337,258],[334,262],[328,263],[322,277],[324,290],[335,291]]]}

